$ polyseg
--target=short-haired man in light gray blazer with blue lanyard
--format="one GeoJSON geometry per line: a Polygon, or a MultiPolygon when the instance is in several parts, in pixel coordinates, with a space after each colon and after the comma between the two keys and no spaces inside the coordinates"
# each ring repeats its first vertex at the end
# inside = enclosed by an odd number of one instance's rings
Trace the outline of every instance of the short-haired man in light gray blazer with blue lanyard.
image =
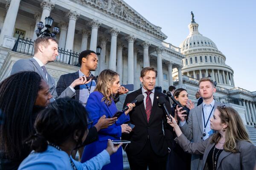
{"type": "MultiPolygon", "coordinates": [[[[180,118],[180,129],[182,133],[192,142],[201,142],[209,138],[209,136],[214,133],[210,129],[209,119],[213,116],[215,109],[221,105],[213,99],[213,93],[215,93],[216,88],[210,79],[202,78],[199,81],[199,93],[203,98],[203,103],[193,108],[189,112],[189,119],[186,123],[184,119],[184,112],[179,111],[178,116],[180,118]]],[[[202,167],[203,155],[193,154],[191,157],[191,170],[200,170],[202,167]]]]}

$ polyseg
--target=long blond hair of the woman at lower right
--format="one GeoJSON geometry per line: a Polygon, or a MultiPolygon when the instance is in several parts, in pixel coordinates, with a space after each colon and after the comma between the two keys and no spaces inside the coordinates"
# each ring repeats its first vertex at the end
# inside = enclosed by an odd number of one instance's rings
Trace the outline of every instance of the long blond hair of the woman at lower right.
{"type": "MultiPolygon", "coordinates": [[[[225,143],[223,148],[225,151],[236,153],[237,142],[247,141],[250,142],[249,135],[245,129],[239,113],[231,107],[220,107],[218,106],[218,111],[220,112],[221,124],[226,123],[227,128],[225,130],[225,143]]],[[[212,143],[218,143],[221,139],[220,133],[213,134],[212,143]]],[[[251,142],[250,142],[251,143],[251,142]]]]}

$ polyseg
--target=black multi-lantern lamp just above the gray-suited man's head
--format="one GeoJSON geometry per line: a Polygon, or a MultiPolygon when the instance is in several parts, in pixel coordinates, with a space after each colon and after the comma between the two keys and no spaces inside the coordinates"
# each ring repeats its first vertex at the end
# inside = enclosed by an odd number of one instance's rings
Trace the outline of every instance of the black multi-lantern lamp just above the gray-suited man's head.
{"type": "Polygon", "coordinates": [[[53,27],[52,28],[52,23],[53,23],[53,19],[52,17],[45,17],[45,27],[46,29],[42,32],[41,30],[44,28],[44,23],[43,22],[39,22],[36,26],[38,27],[38,29],[35,31],[35,34],[37,35],[37,37],[53,37],[56,38],[56,34],[58,34],[60,32],[58,27],[53,27]],[[52,33],[49,31],[49,28],[52,28],[52,33]]]}

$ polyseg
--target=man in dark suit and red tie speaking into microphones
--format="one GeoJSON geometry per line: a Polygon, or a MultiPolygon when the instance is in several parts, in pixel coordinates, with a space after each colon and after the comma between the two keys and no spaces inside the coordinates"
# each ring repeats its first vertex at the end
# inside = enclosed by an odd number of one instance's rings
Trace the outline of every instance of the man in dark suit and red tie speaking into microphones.
{"type": "Polygon", "coordinates": [[[164,96],[168,102],[166,107],[171,111],[169,98],[154,89],[157,71],[145,67],[140,73],[143,87],[125,98],[124,106],[143,94],[143,102],[137,103],[129,113],[131,124],[135,125],[130,134],[124,134],[122,139],[131,141],[123,145],[131,170],[165,170],[166,160],[171,145],[171,132],[166,123],[166,113],[157,104],[157,99],[164,96]]]}

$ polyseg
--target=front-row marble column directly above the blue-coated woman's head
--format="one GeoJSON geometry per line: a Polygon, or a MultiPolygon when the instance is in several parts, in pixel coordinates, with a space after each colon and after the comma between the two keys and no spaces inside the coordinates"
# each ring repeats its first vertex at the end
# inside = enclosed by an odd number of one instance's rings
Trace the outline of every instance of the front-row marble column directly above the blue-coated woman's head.
{"type": "Polygon", "coordinates": [[[119,34],[120,31],[117,28],[111,28],[109,32],[111,34],[111,46],[110,46],[108,68],[113,71],[116,71],[116,43],[117,43],[117,35],[119,34]]]}

